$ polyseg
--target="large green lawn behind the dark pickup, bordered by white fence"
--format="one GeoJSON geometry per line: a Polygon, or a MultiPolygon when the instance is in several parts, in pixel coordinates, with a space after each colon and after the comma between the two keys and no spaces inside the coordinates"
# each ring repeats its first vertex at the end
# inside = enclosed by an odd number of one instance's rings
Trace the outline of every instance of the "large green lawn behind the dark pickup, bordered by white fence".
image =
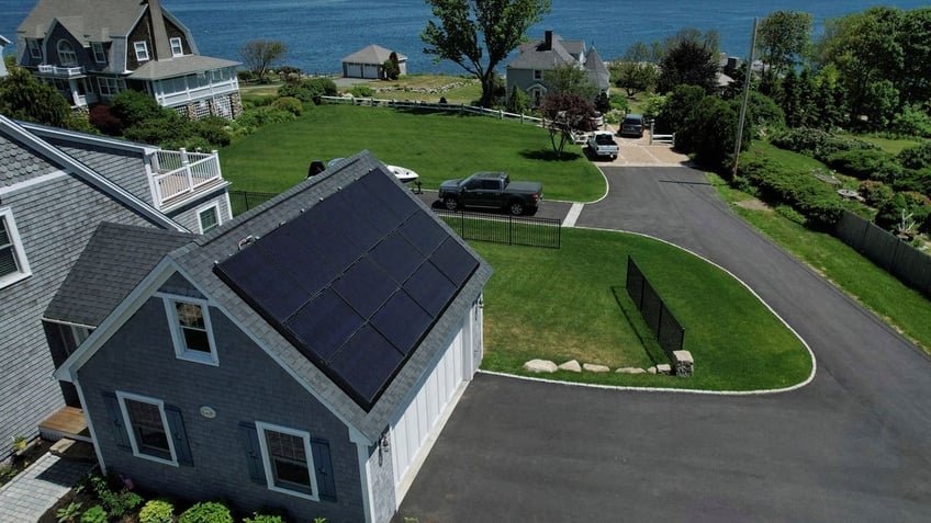
{"type": "Polygon", "coordinates": [[[233,190],[282,192],[300,183],[311,160],[370,150],[385,163],[420,174],[424,189],[480,170],[543,183],[550,200],[591,202],[606,190],[581,148],[553,158],[549,134],[531,125],[458,113],[319,105],[298,121],[260,128],[223,149],[223,175],[233,190]]]}

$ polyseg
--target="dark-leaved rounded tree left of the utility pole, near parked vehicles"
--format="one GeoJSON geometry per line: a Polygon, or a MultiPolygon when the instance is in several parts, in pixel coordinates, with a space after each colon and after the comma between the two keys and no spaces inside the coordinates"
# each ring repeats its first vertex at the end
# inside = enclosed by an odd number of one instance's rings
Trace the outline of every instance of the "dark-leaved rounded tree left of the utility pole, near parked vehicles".
{"type": "Polygon", "coordinates": [[[713,93],[718,86],[718,62],[715,52],[706,44],[682,39],[668,49],[661,64],[657,90],[665,93],[676,86],[698,86],[713,93]]]}

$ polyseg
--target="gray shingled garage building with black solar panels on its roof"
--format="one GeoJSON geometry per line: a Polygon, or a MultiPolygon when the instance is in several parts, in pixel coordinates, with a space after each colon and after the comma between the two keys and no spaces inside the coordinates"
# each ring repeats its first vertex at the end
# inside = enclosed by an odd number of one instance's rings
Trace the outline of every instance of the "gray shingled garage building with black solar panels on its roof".
{"type": "Polygon", "coordinates": [[[491,268],[468,245],[368,152],[179,248],[97,235],[46,316],[98,323],[55,376],[102,470],[292,521],[389,521],[482,359],[491,268]],[[142,260],[101,273],[111,252],[142,260]],[[131,291],[87,316],[117,277],[131,291]]]}

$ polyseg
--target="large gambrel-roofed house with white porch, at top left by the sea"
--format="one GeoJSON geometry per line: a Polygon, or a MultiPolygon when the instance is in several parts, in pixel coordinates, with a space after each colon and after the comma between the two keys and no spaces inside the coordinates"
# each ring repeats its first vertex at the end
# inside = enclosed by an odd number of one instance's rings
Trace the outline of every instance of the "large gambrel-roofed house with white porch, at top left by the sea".
{"type": "Polygon", "coordinates": [[[159,0],[38,0],[16,31],[16,62],[75,107],[144,91],[192,120],[242,113],[236,61],[198,53],[159,0]]]}

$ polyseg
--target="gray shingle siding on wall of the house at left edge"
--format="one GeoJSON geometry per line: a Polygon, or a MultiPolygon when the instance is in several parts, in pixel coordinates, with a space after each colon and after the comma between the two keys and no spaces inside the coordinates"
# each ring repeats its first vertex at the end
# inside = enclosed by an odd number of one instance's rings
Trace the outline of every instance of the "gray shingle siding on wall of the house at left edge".
{"type": "Polygon", "coordinates": [[[83,182],[65,175],[3,194],[23,242],[32,276],[0,289],[0,450],[64,406],[52,379],[42,315],[97,225],[147,225],[138,215],[83,182]]]}

